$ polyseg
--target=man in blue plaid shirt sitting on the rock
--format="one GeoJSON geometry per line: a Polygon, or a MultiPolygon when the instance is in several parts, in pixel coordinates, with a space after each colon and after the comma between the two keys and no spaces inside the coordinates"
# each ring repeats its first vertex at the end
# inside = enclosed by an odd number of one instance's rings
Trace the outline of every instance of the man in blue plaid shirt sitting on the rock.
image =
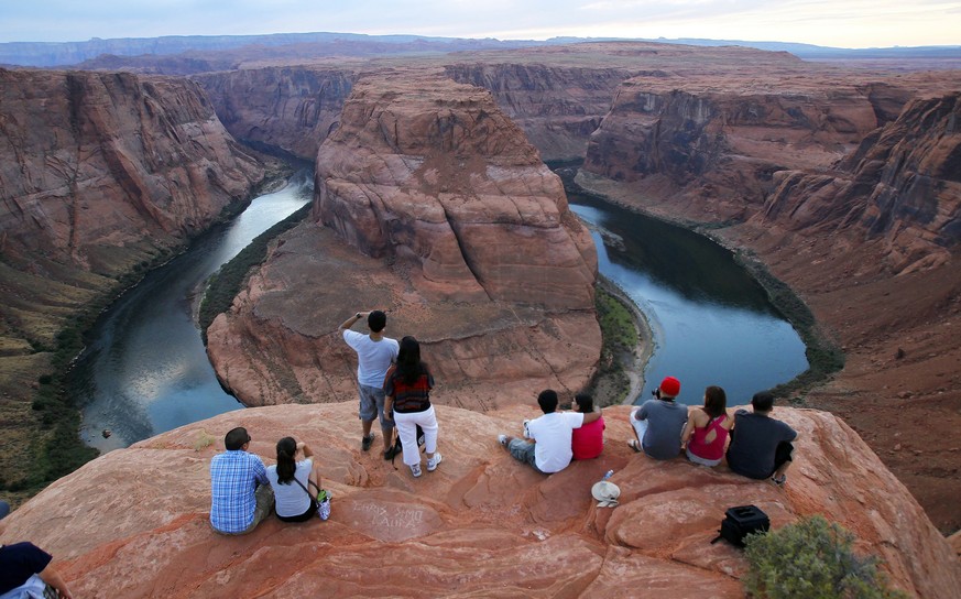
{"type": "Polygon", "coordinates": [[[227,451],[210,460],[210,524],[221,534],[247,534],[271,513],[274,491],[259,456],[247,453],[243,427],[227,433],[227,451]]]}

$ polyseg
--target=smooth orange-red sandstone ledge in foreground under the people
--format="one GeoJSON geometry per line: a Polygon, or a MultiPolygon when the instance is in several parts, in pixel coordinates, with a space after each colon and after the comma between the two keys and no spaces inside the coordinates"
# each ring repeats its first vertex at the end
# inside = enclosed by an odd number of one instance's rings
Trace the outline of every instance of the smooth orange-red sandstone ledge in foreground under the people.
{"type": "Polygon", "coordinates": [[[54,555],[77,597],[743,597],[742,551],[711,544],[724,510],[753,503],[776,530],[822,514],[884,560],[893,586],[948,599],[961,565],[904,486],[827,413],[778,409],[800,432],[783,489],[684,458],[631,451],[629,409],[604,411],[603,455],[544,476],[498,445],[534,406],[437,409],[444,461],[414,479],[357,439],[353,402],[221,414],[112,451],[9,516],[4,543],[54,555]],[[244,426],[272,464],[292,435],[315,449],[334,497],[327,522],[269,518],[253,533],[211,531],[209,462],[244,426]],[[620,504],[598,508],[604,471],[620,504]]]}

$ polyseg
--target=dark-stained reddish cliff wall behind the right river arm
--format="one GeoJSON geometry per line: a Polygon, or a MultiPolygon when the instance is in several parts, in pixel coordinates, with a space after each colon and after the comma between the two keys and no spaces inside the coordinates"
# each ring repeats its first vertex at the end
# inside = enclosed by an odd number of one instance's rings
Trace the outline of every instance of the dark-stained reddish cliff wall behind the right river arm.
{"type": "Polygon", "coordinates": [[[877,126],[854,83],[645,75],[619,88],[583,167],[620,182],[659,181],[743,218],[763,203],[773,173],[826,168],[877,126]]]}

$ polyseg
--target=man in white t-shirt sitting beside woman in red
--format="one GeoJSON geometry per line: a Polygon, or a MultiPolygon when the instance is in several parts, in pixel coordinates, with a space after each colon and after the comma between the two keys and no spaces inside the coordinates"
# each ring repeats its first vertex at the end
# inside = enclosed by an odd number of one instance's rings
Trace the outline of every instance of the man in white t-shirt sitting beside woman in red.
{"type": "Polygon", "coordinates": [[[514,459],[529,464],[538,472],[559,472],[567,468],[574,456],[570,448],[574,429],[594,422],[601,417],[601,413],[557,412],[557,392],[553,389],[542,391],[537,395],[537,404],[544,415],[524,421],[524,437],[531,440],[507,435],[498,435],[498,440],[514,459]]]}

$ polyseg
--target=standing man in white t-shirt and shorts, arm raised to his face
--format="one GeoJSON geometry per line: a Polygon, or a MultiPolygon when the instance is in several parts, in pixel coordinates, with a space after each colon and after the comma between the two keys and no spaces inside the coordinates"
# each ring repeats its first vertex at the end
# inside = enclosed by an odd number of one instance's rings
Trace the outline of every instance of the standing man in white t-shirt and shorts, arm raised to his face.
{"type": "Polygon", "coordinates": [[[384,337],[387,315],[375,309],[358,312],[340,325],[343,340],[357,352],[357,388],[360,394],[360,421],[363,424],[361,449],[367,451],[373,443],[371,425],[374,418],[381,421],[384,436],[384,459],[394,457],[394,421],[384,416],[384,377],[397,359],[400,345],[396,339],[384,337]],[[370,334],[350,330],[358,320],[367,318],[370,334]]]}

